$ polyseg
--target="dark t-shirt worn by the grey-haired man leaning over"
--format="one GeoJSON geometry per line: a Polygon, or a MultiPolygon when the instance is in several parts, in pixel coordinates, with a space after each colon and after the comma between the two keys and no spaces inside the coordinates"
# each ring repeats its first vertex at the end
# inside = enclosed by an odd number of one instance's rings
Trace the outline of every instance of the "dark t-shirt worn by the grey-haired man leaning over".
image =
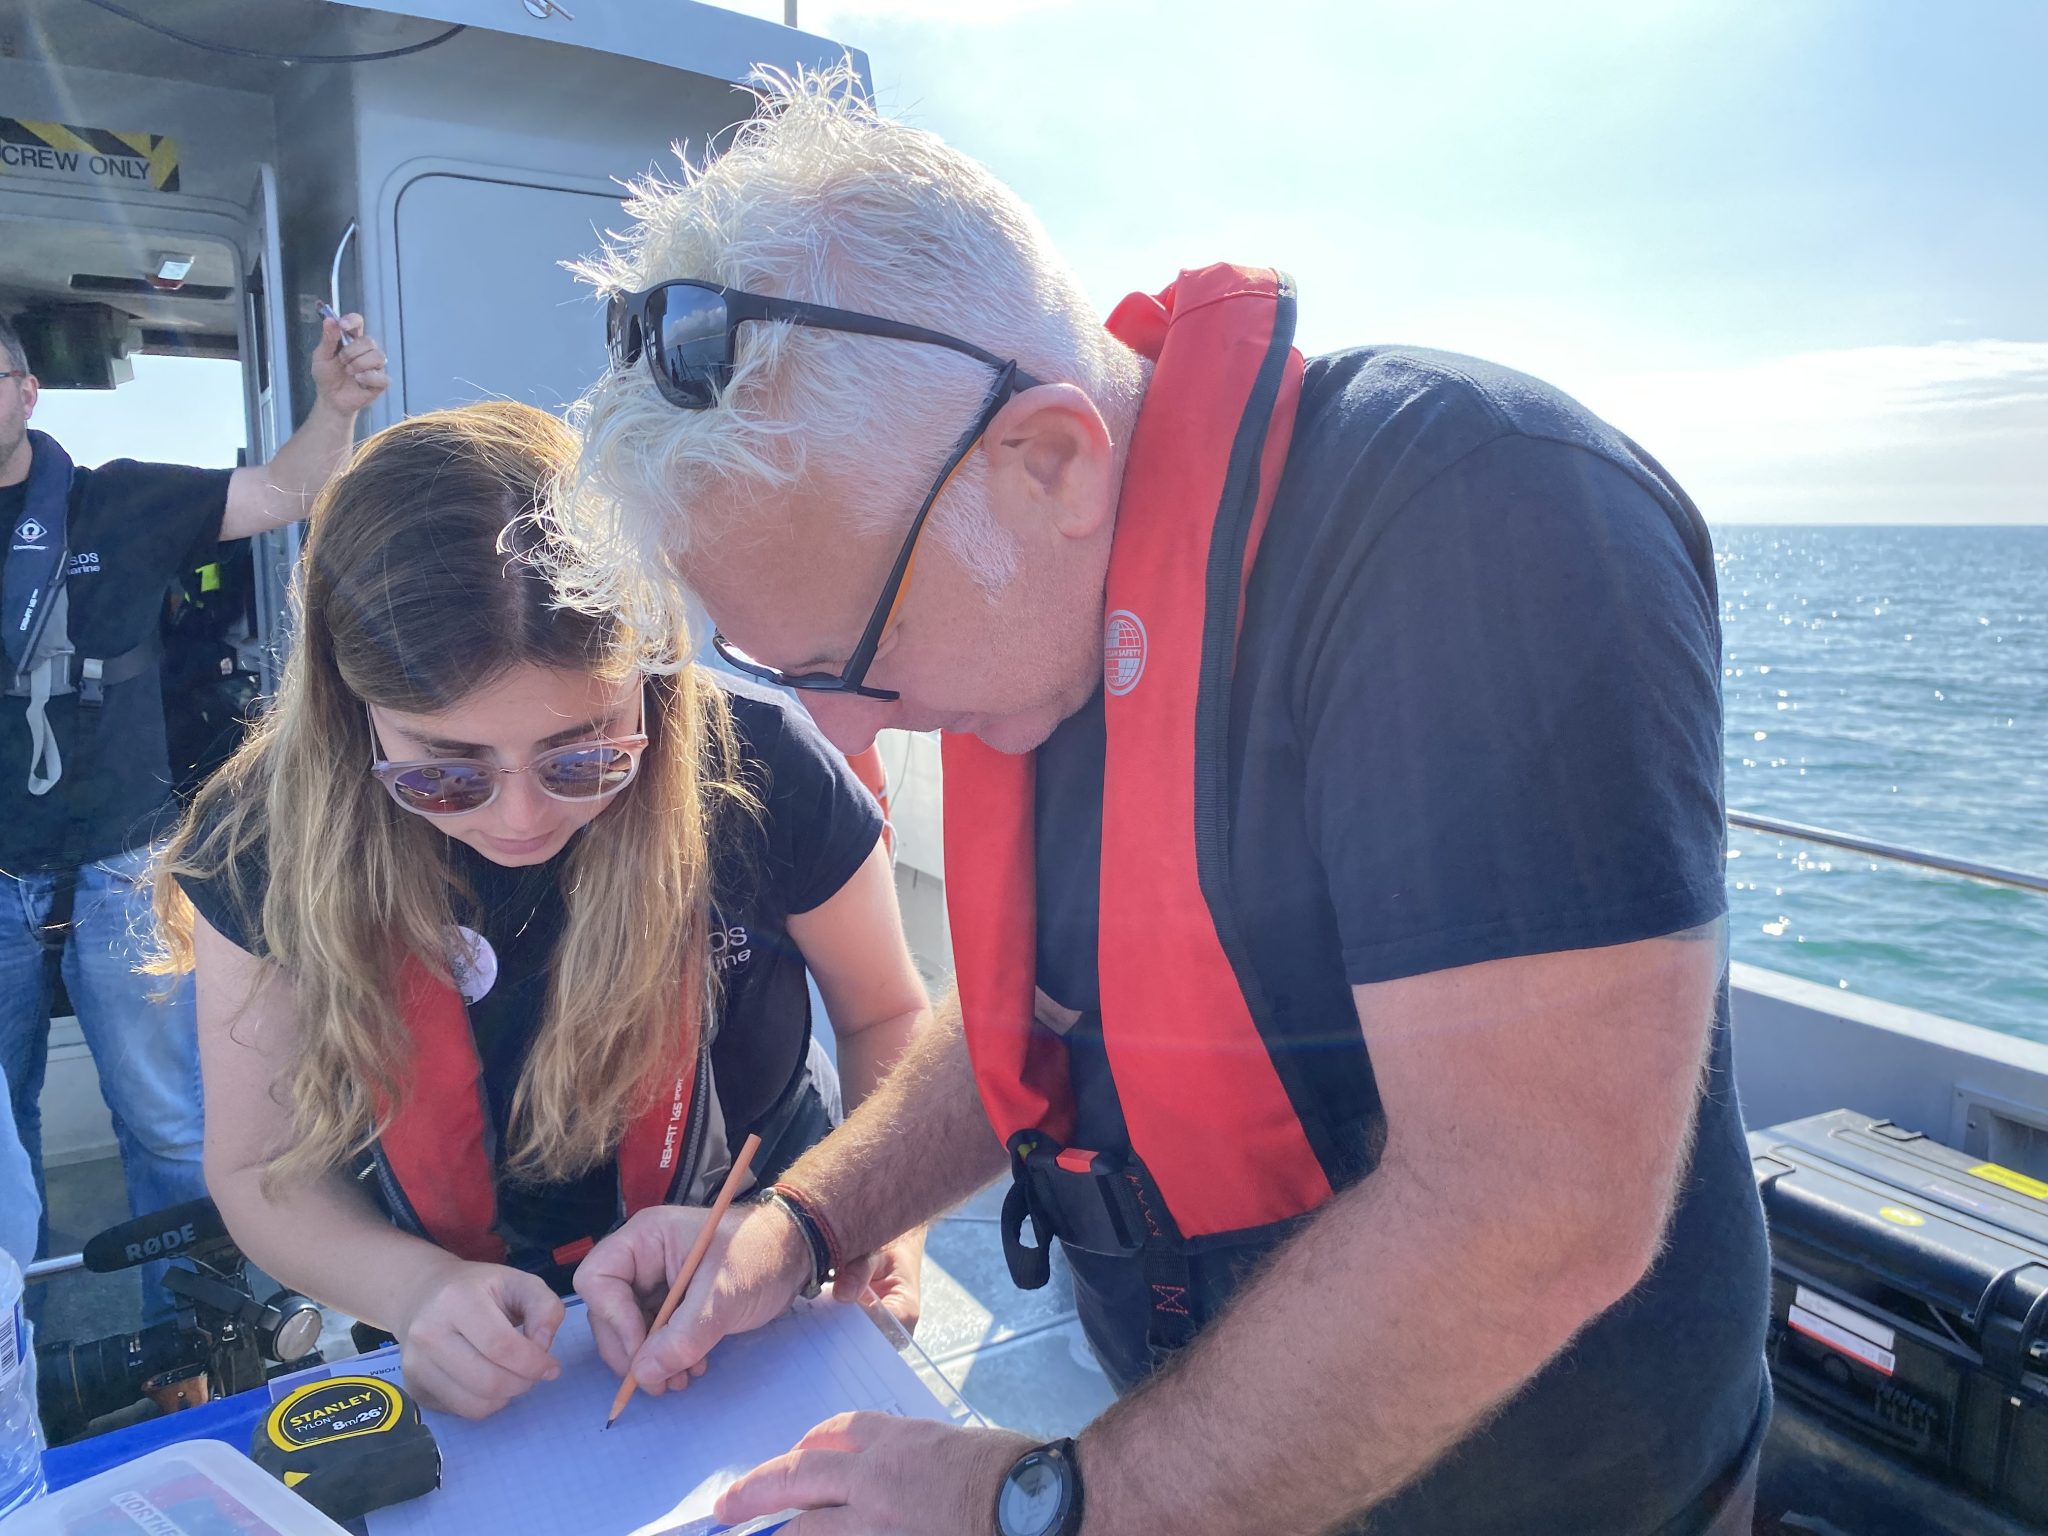
{"type": "MultiPolygon", "coordinates": [[[[1083,1012],[1075,1141],[1120,1149],[1094,1012],[1102,756],[1100,694],[1038,752],[1038,981],[1083,1012]]],[[[1356,983],[1720,918],[1720,629],[1698,512],[1524,375],[1409,348],[1311,360],[1229,758],[1235,911],[1274,1016],[1309,1038],[1356,1040],[1356,983]]],[[[1356,1098],[1378,1114],[1370,1083],[1356,1098]]],[[[1145,1276],[1069,1253],[1112,1374],[1143,1374],[1145,1276]]],[[[1204,1255],[1196,1280],[1221,1298],[1251,1257],[1204,1255]]],[[[1372,1532],[1657,1530],[1757,1425],[1767,1274],[1722,983],[1657,1268],[1372,1532]]],[[[1495,1327],[1511,1319],[1440,1346],[1483,1350],[1495,1327]]]]}

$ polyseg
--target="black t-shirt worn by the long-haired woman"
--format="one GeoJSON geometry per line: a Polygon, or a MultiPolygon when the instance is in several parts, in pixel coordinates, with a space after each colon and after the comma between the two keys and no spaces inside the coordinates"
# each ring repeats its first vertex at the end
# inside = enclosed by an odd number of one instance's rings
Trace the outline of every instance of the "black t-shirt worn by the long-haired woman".
{"type": "MultiPolygon", "coordinates": [[[[719,684],[731,694],[743,768],[764,813],[729,815],[715,834],[711,956],[721,1018],[756,1018],[764,1006],[809,1006],[788,918],[823,905],[854,877],[874,850],[883,817],[809,715],[754,684],[723,676],[719,684]]],[[[561,874],[571,848],[545,864],[504,868],[467,844],[446,842],[451,877],[475,893],[475,903],[457,899],[457,922],[481,934],[496,956],[498,979],[469,1004],[469,1028],[500,1147],[547,1008],[565,920],[561,874]]],[[[258,911],[266,879],[258,850],[240,881],[258,911]]],[[[225,879],[184,881],[193,905],[223,938],[264,954],[260,922],[250,922],[233,889],[225,879]]],[[[541,1249],[606,1231],[616,1202],[616,1163],[547,1186],[498,1180],[500,1227],[541,1249]]]]}

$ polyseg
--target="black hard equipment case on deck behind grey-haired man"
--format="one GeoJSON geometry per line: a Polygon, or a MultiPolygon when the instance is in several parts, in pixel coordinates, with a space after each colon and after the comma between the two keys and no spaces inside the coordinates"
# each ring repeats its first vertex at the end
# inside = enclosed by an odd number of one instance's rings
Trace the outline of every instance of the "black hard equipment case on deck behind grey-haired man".
{"type": "Polygon", "coordinates": [[[1778,1391],[2048,1522],[2048,1182],[1851,1110],[1749,1155],[1778,1391]]]}

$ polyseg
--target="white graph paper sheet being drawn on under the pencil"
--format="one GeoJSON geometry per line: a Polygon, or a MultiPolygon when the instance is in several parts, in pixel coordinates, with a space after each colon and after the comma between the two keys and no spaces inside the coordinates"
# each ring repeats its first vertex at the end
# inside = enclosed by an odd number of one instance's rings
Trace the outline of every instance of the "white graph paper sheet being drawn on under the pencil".
{"type": "Polygon", "coordinates": [[[610,1430],[618,1378],[582,1307],[555,1358],[559,1380],[481,1423],[428,1413],[440,1489],[371,1513],[371,1536],[657,1536],[834,1413],[948,1417],[874,1323],[825,1300],[723,1341],[688,1391],[639,1395],[610,1430]]]}

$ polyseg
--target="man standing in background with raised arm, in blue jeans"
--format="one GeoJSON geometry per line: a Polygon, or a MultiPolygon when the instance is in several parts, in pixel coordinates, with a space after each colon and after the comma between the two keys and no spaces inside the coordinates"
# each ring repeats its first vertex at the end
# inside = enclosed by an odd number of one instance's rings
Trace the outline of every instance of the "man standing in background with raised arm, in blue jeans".
{"type": "MultiPolygon", "coordinates": [[[[172,807],[158,623],[172,578],[223,539],[305,516],[348,455],[356,414],[389,379],[362,317],[328,319],[317,397],[266,465],[188,469],[129,459],[86,469],[29,422],[37,379],[0,317],[0,1067],[43,1180],[51,958],[98,1067],[133,1214],[205,1194],[190,987],[137,973],[150,844],[172,807]],[[344,336],[346,330],[346,336],[344,336]]],[[[150,1317],[170,1309],[162,1266],[150,1317]]]]}

